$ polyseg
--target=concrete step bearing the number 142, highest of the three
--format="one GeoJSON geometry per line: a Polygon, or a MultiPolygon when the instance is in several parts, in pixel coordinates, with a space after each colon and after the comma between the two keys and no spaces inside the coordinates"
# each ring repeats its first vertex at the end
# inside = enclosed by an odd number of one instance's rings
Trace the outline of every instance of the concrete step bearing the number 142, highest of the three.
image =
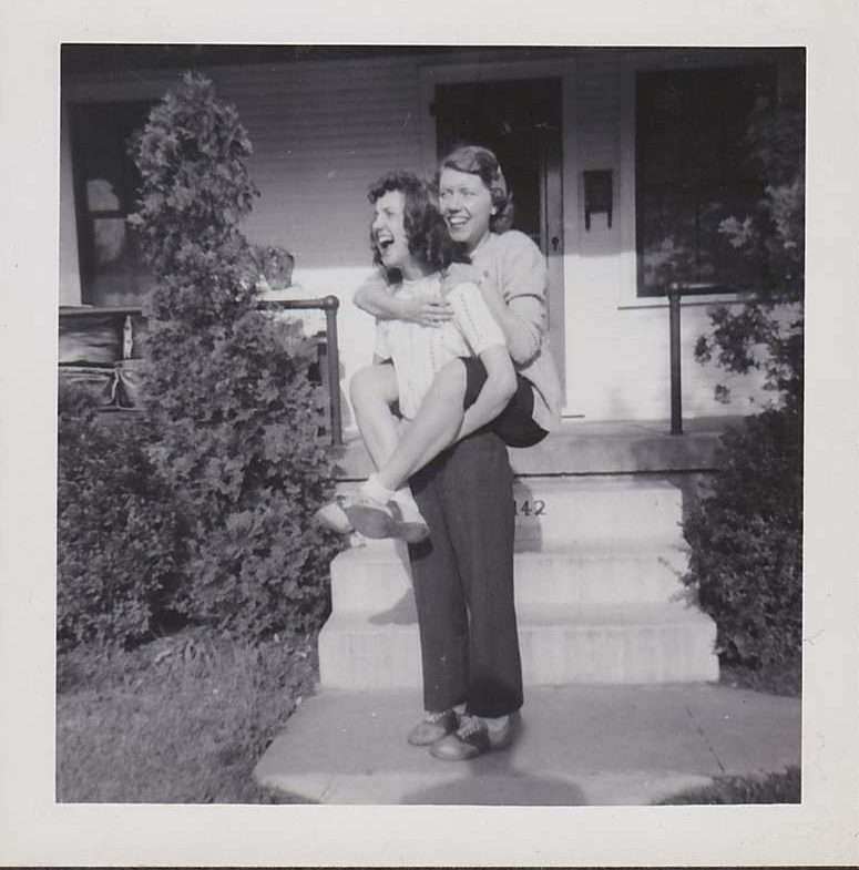
{"type": "MultiPolygon", "coordinates": [[[[355,483],[341,483],[348,495],[355,483]]],[[[518,478],[515,535],[521,544],[681,541],[679,489],[636,475],[518,478]]]]}

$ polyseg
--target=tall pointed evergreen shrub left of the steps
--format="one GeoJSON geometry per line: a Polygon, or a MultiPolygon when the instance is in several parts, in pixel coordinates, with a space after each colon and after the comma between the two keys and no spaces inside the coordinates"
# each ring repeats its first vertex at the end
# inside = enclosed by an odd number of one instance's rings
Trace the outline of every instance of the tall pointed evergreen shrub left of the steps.
{"type": "Polygon", "coordinates": [[[256,310],[259,272],[239,223],[256,188],[250,143],[211,82],[186,75],[133,155],[131,218],[157,286],[147,304],[150,451],[190,518],[176,606],[233,634],[315,625],[333,540],[310,522],[330,495],[315,341],[256,310]]]}

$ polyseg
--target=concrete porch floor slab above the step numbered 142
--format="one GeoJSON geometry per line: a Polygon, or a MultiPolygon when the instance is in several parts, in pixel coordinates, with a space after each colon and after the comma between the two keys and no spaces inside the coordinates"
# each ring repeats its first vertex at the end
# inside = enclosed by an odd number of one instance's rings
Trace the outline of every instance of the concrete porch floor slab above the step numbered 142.
{"type": "MultiPolygon", "coordinates": [[[[684,434],[672,436],[668,420],[564,420],[535,447],[511,448],[519,477],[551,474],[630,474],[712,471],[719,436],[742,417],[685,420],[684,434]]],[[[338,480],[361,480],[374,471],[357,432],[345,436],[338,480]]]]}

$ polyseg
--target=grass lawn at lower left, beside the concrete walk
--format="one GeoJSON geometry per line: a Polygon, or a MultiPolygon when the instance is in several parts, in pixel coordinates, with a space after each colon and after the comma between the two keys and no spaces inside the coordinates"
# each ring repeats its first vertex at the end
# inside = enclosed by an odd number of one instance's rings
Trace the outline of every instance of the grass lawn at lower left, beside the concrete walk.
{"type": "Polygon", "coordinates": [[[186,631],[58,657],[57,799],[288,804],[254,765],[314,689],[316,637],[258,646],[186,631]]]}

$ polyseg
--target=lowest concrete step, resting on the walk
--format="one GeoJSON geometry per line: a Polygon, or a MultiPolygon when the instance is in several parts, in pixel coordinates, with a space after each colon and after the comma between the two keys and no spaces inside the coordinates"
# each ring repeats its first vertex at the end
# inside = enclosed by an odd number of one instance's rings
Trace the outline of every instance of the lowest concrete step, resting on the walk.
{"type": "MultiPolygon", "coordinates": [[[[684,683],[718,678],[716,625],[679,603],[531,604],[518,608],[528,685],[684,683]]],[[[334,612],[319,634],[325,688],[419,686],[413,601],[381,614],[334,612]]]]}

